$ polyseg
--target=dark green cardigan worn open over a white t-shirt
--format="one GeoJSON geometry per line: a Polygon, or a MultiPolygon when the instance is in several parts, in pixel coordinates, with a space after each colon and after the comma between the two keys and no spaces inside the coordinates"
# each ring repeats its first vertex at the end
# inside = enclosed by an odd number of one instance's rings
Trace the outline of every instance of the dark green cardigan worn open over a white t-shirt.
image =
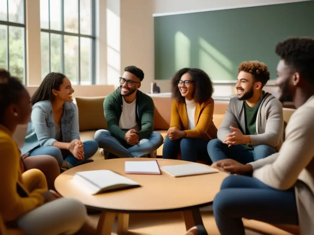
{"type": "MultiPolygon", "coordinates": [[[[119,127],[122,113],[122,95],[119,87],[105,98],[104,112],[111,135],[120,143],[126,144],[124,135],[128,130],[119,127]]],[[[148,138],[153,132],[154,102],[150,96],[139,90],[136,93],[136,124],[140,128],[137,132],[139,140],[148,138]]]]}

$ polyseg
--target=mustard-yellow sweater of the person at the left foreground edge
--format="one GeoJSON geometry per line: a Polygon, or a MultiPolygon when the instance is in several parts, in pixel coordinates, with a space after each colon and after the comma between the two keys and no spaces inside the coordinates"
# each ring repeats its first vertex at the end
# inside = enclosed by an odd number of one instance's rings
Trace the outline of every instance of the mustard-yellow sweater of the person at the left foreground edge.
{"type": "Polygon", "coordinates": [[[47,189],[30,192],[23,184],[20,156],[11,133],[0,125],[0,213],[4,222],[14,221],[44,203],[42,192],[47,189]]]}

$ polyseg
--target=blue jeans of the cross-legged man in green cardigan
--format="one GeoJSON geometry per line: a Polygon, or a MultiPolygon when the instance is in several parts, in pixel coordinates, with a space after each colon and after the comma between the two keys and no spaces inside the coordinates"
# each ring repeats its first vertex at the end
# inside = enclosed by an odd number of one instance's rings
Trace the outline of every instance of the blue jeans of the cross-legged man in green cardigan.
{"type": "Polygon", "coordinates": [[[159,132],[152,132],[149,138],[141,139],[139,144],[126,148],[116,138],[111,136],[108,130],[96,131],[95,140],[100,148],[106,149],[120,158],[142,157],[158,149],[164,141],[159,132]]]}

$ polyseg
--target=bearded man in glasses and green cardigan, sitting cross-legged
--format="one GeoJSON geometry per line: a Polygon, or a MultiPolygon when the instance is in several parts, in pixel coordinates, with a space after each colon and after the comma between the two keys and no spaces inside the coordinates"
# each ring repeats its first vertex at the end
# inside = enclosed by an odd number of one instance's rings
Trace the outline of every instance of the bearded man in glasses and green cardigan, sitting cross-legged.
{"type": "Polygon", "coordinates": [[[100,148],[120,158],[146,156],[163,143],[161,134],[153,132],[153,99],[138,90],[143,79],[141,69],[125,67],[120,86],[104,101],[108,130],[98,130],[95,140],[100,148]]]}

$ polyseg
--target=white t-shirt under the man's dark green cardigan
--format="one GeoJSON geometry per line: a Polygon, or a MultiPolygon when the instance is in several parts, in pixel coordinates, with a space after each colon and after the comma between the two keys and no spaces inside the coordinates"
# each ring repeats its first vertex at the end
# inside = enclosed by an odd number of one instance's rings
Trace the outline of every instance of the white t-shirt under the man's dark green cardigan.
{"type": "Polygon", "coordinates": [[[122,113],[119,120],[121,129],[131,129],[136,126],[136,99],[132,103],[125,102],[122,98],[122,113]]]}

